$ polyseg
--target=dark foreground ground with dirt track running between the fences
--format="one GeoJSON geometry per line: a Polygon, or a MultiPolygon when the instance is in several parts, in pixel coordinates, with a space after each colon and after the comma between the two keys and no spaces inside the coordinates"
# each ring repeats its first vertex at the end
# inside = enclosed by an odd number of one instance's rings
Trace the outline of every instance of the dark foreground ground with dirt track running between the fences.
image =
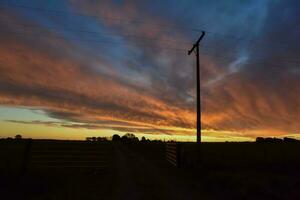
{"type": "Polygon", "coordinates": [[[103,168],[1,173],[1,199],[300,199],[292,167],[177,168],[163,143],[108,146],[112,159],[103,168]]]}

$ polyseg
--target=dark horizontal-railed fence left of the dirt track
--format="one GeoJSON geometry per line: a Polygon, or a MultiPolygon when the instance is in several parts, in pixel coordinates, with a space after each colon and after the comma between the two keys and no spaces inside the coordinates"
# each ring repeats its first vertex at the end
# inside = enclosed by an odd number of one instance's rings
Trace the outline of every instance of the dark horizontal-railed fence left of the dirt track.
{"type": "Polygon", "coordinates": [[[4,167],[21,173],[50,168],[103,169],[111,165],[113,157],[113,147],[107,142],[27,140],[1,146],[6,151],[1,155],[4,167]]]}

